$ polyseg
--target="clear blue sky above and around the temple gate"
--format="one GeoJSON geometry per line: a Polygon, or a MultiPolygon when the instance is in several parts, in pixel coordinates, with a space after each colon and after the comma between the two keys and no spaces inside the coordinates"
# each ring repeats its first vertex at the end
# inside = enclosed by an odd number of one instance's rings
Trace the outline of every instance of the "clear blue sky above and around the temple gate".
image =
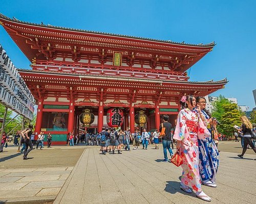
{"type": "MultiPolygon", "coordinates": [[[[227,78],[215,92],[255,107],[256,1],[5,1],[0,12],[19,20],[60,27],[172,40],[186,43],[215,41],[214,50],[190,70],[190,81],[227,78]]],[[[3,27],[0,43],[18,68],[30,68],[3,27]]]]}

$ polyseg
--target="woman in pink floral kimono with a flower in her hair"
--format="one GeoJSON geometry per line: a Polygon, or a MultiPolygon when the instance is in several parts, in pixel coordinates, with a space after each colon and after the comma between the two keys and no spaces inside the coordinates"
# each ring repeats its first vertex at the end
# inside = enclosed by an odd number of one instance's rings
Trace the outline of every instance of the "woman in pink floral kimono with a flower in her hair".
{"type": "Polygon", "coordinates": [[[205,139],[210,133],[200,118],[200,107],[197,109],[198,113],[193,111],[197,105],[193,95],[183,96],[181,105],[183,109],[179,112],[174,133],[177,149],[183,161],[180,188],[187,193],[191,193],[193,189],[198,198],[210,201],[211,198],[202,191],[198,165],[198,139],[205,139]]]}

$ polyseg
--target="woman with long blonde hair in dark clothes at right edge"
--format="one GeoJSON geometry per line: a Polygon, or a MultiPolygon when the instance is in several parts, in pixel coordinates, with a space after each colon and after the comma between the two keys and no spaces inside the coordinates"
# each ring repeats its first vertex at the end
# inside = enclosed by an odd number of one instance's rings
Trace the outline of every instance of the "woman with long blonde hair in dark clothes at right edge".
{"type": "MultiPolygon", "coordinates": [[[[256,147],[253,145],[252,140],[251,140],[251,129],[252,129],[252,124],[249,121],[249,119],[246,116],[241,117],[242,121],[242,129],[241,131],[244,134],[244,147],[243,147],[243,152],[241,155],[238,155],[241,159],[244,158],[244,154],[247,150],[247,145],[253,149],[253,151],[256,153],[256,147]]],[[[256,159],[255,159],[256,160],[256,159]]]]}

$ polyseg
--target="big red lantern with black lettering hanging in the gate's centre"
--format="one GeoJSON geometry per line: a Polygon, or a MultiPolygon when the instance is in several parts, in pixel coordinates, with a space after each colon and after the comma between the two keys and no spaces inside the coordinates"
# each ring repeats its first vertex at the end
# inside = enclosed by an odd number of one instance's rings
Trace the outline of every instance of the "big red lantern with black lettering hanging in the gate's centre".
{"type": "Polygon", "coordinates": [[[123,124],[123,111],[119,108],[111,108],[106,112],[106,123],[110,127],[120,127],[123,124]]]}

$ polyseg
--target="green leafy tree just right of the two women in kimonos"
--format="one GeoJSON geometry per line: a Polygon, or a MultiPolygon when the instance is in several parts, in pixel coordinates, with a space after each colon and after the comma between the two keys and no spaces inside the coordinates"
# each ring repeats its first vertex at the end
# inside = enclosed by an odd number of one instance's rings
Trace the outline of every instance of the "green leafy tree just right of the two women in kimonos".
{"type": "Polygon", "coordinates": [[[214,111],[212,117],[216,117],[220,122],[218,131],[227,137],[232,137],[234,133],[234,125],[241,125],[241,111],[237,104],[232,104],[222,95],[214,102],[214,111]]]}

